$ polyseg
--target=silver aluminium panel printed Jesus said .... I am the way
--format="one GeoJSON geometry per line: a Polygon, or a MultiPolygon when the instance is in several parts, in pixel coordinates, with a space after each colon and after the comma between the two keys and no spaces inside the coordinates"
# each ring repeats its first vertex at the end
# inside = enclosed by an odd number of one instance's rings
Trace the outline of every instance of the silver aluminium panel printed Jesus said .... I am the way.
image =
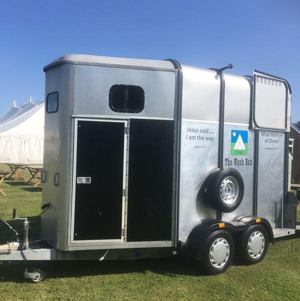
{"type": "Polygon", "coordinates": [[[217,168],[220,80],[215,71],[182,66],[178,239],[216,211],[203,201],[204,180],[217,168]]]}

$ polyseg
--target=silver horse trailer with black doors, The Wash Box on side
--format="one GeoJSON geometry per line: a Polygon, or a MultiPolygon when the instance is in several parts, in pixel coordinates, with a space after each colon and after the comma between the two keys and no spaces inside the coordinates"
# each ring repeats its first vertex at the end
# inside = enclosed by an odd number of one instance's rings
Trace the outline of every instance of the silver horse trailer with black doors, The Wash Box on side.
{"type": "Polygon", "coordinates": [[[269,241],[294,234],[290,86],[223,73],[231,67],[79,54],[45,66],[47,247],[15,241],[0,260],[184,253],[217,274],[234,250],[256,263],[269,241]]]}

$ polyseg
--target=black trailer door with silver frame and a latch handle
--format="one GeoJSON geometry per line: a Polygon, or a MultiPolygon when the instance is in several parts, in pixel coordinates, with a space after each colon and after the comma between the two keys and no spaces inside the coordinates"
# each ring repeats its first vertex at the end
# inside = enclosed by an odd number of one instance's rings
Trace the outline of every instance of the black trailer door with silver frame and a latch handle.
{"type": "Polygon", "coordinates": [[[73,241],[124,239],[126,125],[75,119],[73,241]]]}

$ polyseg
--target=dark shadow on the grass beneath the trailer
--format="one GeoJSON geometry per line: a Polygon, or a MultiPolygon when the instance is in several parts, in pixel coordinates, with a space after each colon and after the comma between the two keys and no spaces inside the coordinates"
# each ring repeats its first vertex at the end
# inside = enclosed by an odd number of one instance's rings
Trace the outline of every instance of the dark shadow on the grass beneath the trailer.
{"type": "Polygon", "coordinates": [[[47,273],[47,278],[82,277],[94,275],[122,275],[127,273],[145,274],[152,271],[167,277],[180,275],[205,276],[200,267],[187,257],[168,257],[137,260],[69,260],[69,261],[30,261],[18,264],[0,265],[0,281],[24,282],[23,272],[27,267],[40,268],[47,273]]]}

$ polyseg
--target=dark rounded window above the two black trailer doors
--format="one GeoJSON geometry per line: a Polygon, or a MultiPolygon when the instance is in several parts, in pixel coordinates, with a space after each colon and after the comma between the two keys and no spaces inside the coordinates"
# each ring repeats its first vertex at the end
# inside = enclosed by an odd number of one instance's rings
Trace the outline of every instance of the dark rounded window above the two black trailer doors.
{"type": "Polygon", "coordinates": [[[115,112],[139,113],[144,103],[145,92],[138,85],[114,84],[109,89],[109,107],[115,112]]]}

